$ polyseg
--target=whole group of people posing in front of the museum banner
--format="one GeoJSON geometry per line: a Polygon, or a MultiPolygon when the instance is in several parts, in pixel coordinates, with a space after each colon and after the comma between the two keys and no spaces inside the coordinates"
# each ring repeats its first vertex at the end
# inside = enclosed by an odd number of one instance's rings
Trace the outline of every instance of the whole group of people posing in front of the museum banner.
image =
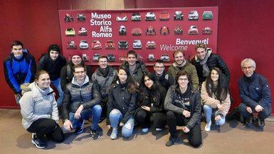
{"type": "MultiPolygon", "coordinates": [[[[171,146],[178,141],[176,126],[182,126],[189,143],[199,147],[202,111],[206,116],[205,131],[211,131],[212,123],[223,125],[231,96],[226,63],[204,43],[195,45],[195,50],[192,60],[186,60],[181,50],[174,51],[174,63],[167,72],[162,60],[156,60],[154,72],[149,72],[134,50],[127,52],[127,60],[117,70],[108,65],[107,56],[101,55],[99,67],[92,72],[80,55],[72,55],[66,62],[58,45],[50,45],[48,53],[39,59],[36,72],[34,57],[16,40],[4,60],[4,72],[21,106],[23,127],[33,133],[32,143],[37,148],[46,147],[45,136],[62,142],[64,133],[83,133],[87,119],[92,121],[93,139],[100,138],[98,123],[106,119],[112,128],[112,140],[117,139],[119,127],[127,138],[135,126],[141,126],[143,133],[150,127],[162,131],[168,126],[166,145],[171,146]],[[58,91],[57,101],[51,84],[58,91]],[[58,125],[58,106],[62,126],[58,125]]],[[[241,62],[244,75],[238,80],[240,111],[247,127],[253,126],[253,114],[258,113],[256,126],[263,129],[272,100],[267,79],[255,73],[255,67],[250,58],[241,62]]]]}

